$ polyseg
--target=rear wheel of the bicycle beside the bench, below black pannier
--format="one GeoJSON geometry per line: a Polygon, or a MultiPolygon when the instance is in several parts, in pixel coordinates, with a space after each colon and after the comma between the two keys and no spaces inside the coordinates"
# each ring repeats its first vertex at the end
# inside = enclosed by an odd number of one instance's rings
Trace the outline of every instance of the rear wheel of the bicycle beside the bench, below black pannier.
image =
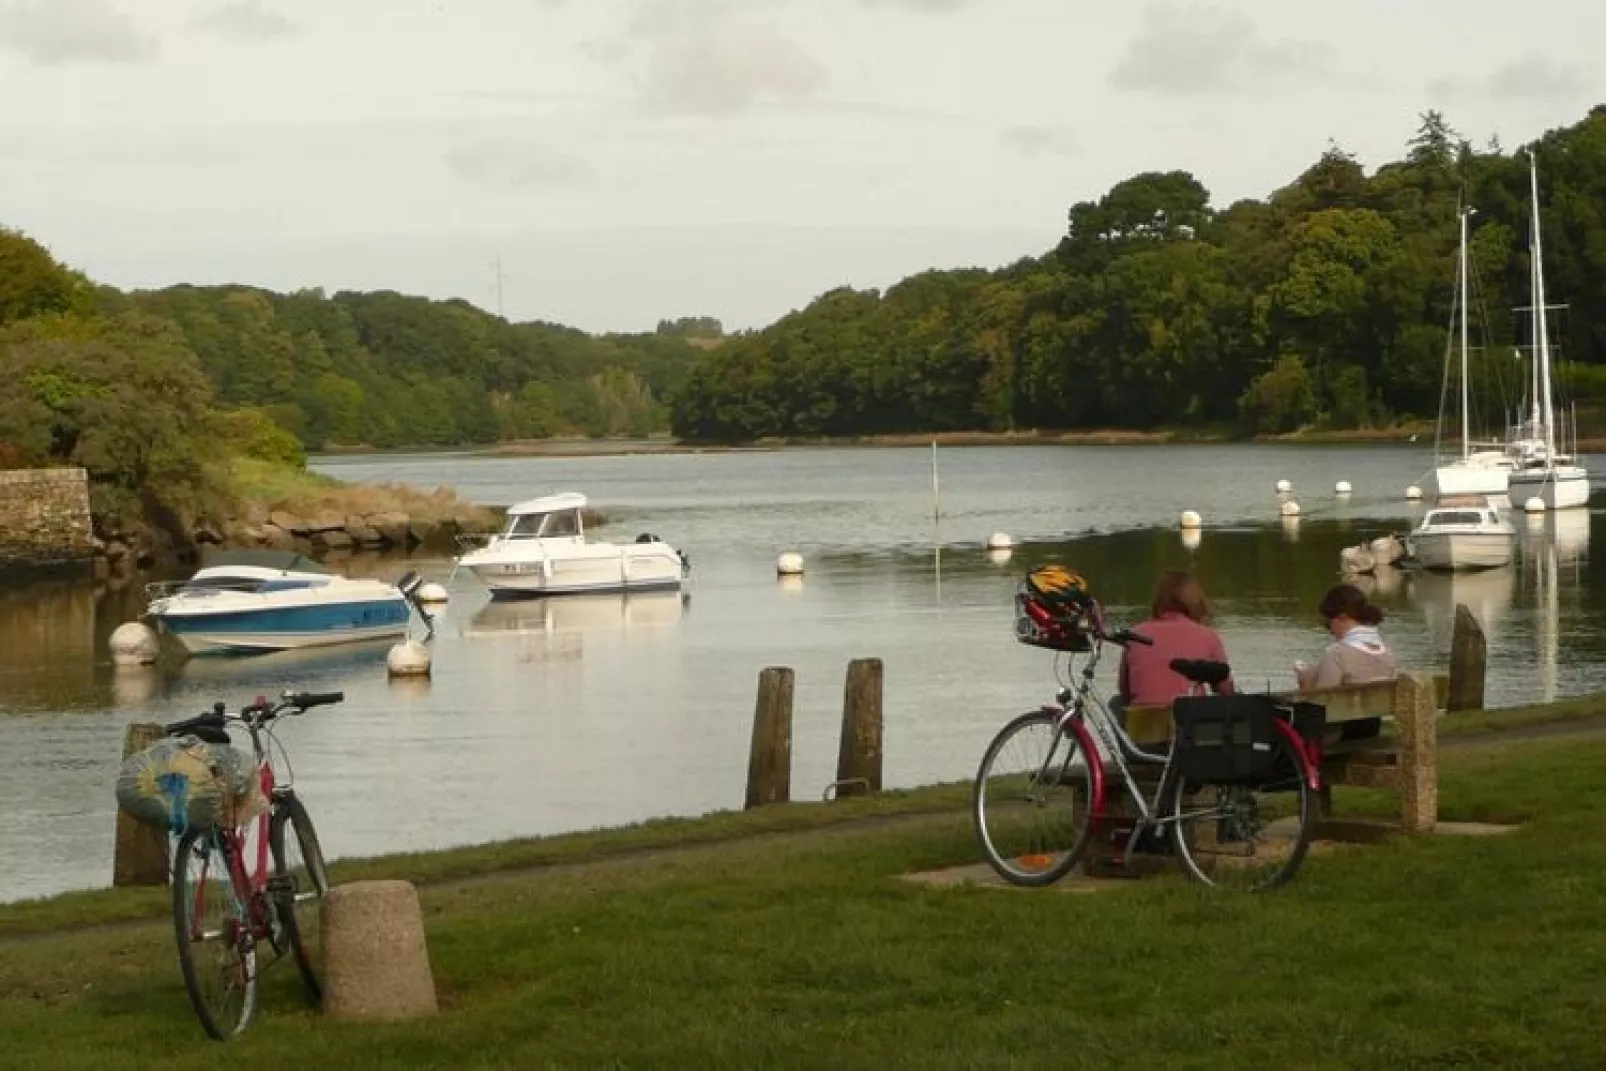
{"type": "Polygon", "coordinates": [[[1169,788],[1172,845],[1195,882],[1243,891],[1277,888],[1304,862],[1315,827],[1315,792],[1306,761],[1278,732],[1274,780],[1261,785],[1201,785],[1174,779],[1169,788]]]}

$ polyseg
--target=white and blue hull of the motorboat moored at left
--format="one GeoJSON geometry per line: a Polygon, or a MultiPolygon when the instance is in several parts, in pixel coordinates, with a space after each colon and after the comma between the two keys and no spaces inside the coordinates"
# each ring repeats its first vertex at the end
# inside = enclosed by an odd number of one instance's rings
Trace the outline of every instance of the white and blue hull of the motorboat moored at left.
{"type": "Polygon", "coordinates": [[[151,617],[190,654],[300,650],[405,636],[411,607],[393,599],[223,609],[175,605],[151,617]]]}

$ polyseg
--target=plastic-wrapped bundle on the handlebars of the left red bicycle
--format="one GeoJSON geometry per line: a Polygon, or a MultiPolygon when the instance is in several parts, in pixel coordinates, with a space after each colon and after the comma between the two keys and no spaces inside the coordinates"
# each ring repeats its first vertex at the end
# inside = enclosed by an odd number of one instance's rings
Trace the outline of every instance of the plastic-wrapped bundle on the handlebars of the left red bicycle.
{"type": "Polygon", "coordinates": [[[194,735],[167,737],[122,761],[117,806],[173,833],[238,825],[265,804],[251,758],[194,735]]]}

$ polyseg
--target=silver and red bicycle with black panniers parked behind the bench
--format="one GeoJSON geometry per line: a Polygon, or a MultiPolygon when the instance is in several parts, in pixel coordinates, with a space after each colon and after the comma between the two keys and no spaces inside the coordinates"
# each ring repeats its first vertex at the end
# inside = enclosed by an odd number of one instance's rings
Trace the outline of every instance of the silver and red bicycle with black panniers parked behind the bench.
{"type": "Polygon", "coordinates": [[[1092,601],[1079,629],[1041,602],[1018,597],[1018,604],[1031,618],[1017,626],[1023,642],[1071,654],[1073,671],[1076,654],[1087,658],[1074,687],[1062,678],[1055,703],[1013,718],[981,756],[972,817],[999,877],[1026,886],[1058,882],[1082,861],[1095,827],[1113,824],[1111,788],[1124,788],[1135,814],[1123,865],[1131,867],[1135,851],[1163,846],[1169,833],[1171,853],[1204,885],[1256,891],[1293,878],[1310,846],[1322,787],[1312,748],[1293,726],[1293,705],[1241,697],[1235,707],[1245,718],[1235,723],[1222,697],[1200,698],[1206,686],[1230,676],[1229,666],[1174,660],[1171,668],[1193,684],[1195,697],[1172,708],[1172,745],[1164,753],[1143,750],[1094,689],[1094,673],[1107,644],[1153,641],[1129,629],[1111,633],[1092,601]],[[1034,629],[1031,636],[1025,628],[1034,629]],[[1216,719],[1224,711],[1225,724],[1216,719]],[[1017,750],[1020,761],[1009,763],[1017,750]],[[1119,784],[1111,785],[1107,763],[1119,784]],[[1134,768],[1160,771],[1153,796],[1142,792],[1134,768]]]}

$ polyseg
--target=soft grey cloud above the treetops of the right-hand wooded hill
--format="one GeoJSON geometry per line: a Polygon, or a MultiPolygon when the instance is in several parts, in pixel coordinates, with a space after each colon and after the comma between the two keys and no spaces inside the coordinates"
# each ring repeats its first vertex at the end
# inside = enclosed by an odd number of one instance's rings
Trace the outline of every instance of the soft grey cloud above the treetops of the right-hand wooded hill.
{"type": "Polygon", "coordinates": [[[1137,37],[1110,71],[1116,88],[1152,93],[1238,93],[1328,69],[1331,50],[1314,40],[1264,40],[1225,8],[1152,3],[1137,37]]]}

